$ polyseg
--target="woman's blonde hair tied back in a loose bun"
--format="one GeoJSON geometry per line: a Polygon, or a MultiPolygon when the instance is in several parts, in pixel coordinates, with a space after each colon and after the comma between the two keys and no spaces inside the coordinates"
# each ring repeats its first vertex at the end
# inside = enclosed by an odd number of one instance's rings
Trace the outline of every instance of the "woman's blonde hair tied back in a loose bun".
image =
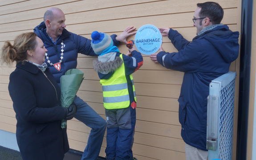
{"type": "Polygon", "coordinates": [[[13,61],[18,63],[26,60],[27,50],[34,50],[37,47],[36,37],[35,33],[27,32],[16,36],[13,45],[10,41],[6,41],[2,48],[1,60],[9,65],[13,61]]]}

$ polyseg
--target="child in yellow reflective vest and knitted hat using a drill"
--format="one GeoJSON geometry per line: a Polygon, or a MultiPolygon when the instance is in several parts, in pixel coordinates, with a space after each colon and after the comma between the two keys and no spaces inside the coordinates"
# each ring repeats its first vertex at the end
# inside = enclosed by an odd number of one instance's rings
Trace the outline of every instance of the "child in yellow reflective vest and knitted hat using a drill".
{"type": "Polygon", "coordinates": [[[93,68],[102,84],[107,119],[106,159],[137,160],[131,150],[137,101],[131,74],[142,66],[142,55],[134,47],[126,55],[121,54],[105,33],[94,31],[91,37],[93,51],[99,55],[93,68]]]}

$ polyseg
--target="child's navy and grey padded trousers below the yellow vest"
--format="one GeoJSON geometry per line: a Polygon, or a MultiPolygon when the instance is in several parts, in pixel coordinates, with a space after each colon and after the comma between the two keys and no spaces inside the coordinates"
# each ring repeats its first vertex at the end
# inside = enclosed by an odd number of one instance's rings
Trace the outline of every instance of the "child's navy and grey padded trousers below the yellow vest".
{"type": "Polygon", "coordinates": [[[136,110],[131,108],[106,109],[107,118],[107,160],[132,160],[132,144],[136,110]]]}

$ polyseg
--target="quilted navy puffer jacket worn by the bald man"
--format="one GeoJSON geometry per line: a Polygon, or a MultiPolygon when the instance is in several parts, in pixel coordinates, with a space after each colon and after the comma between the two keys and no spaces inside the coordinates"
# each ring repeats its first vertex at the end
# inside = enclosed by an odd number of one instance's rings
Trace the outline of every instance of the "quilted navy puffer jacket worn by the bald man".
{"type": "MultiPolygon", "coordinates": [[[[60,78],[65,72],[69,69],[77,68],[77,54],[81,53],[87,56],[98,56],[93,52],[91,47],[91,40],[74,34],[72,32],[63,30],[62,35],[57,39],[56,44],[52,42],[50,37],[46,33],[45,23],[42,22],[37,27],[34,28],[34,32],[39,38],[43,41],[45,48],[48,50],[47,54],[51,63],[58,63],[61,59],[61,42],[65,44],[63,48],[63,59],[61,63],[61,70],[58,71],[53,66],[47,62],[46,64],[50,68],[50,72],[53,74],[54,78],[57,80],[57,83],[60,83],[60,78]]],[[[115,40],[116,35],[111,35],[111,38],[114,41],[114,45],[118,46],[119,42],[115,40]]]]}

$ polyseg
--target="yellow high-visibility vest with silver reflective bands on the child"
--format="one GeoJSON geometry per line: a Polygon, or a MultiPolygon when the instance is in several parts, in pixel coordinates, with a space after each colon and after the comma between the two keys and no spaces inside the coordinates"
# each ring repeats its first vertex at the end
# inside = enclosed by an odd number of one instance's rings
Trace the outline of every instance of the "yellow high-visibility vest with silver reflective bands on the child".
{"type": "MultiPolygon", "coordinates": [[[[120,58],[123,60],[122,54],[120,58]]],[[[135,88],[133,76],[130,75],[130,80],[133,85],[134,100],[137,101],[135,95],[135,88]]],[[[106,109],[120,109],[127,108],[130,105],[130,97],[128,92],[128,85],[125,75],[124,63],[114,72],[114,74],[107,80],[100,80],[103,91],[103,104],[106,109]]]]}

